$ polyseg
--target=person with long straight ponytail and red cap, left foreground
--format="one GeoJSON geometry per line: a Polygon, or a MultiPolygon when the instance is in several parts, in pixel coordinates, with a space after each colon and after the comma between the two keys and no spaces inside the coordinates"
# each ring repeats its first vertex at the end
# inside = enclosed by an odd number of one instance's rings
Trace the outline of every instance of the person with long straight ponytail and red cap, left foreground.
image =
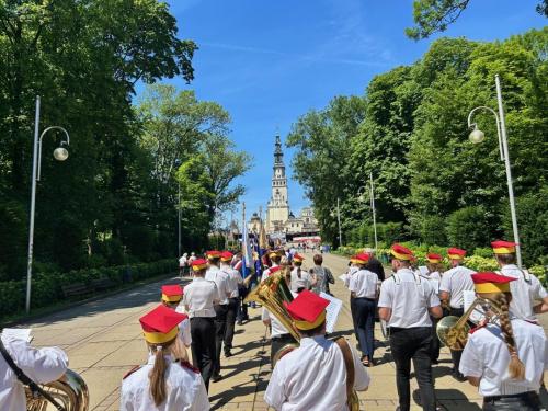
{"type": "Polygon", "coordinates": [[[173,355],[179,324],[185,318],[160,305],[139,319],[149,357],[147,364],[134,367],[124,376],[121,411],[209,410],[199,370],[173,355]]]}

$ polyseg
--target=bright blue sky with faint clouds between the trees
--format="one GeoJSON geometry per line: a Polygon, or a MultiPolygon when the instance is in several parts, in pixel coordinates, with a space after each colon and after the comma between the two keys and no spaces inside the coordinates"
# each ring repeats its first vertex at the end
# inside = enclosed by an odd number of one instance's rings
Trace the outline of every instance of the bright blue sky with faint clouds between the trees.
{"type": "MultiPolygon", "coordinates": [[[[444,36],[503,39],[546,25],[535,12],[539,0],[472,0],[444,36]]],[[[271,196],[274,138],[282,140],[310,110],[335,95],[363,95],[376,75],[410,65],[441,35],[414,42],[411,0],[169,0],[180,38],[199,49],[195,79],[165,80],[192,89],[198,100],[215,101],[230,113],[230,138],[253,156],[253,167],[238,182],[247,219],[271,196]]],[[[290,172],[285,148],[289,206],[309,205],[290,172]]],[[[241,213],[239,209],[238,213],[241,213]]],[[[228,216],[227,216],[228,217],[228,216]]],[[[236,215],[235,215],[236,217],[236,215]]]]}

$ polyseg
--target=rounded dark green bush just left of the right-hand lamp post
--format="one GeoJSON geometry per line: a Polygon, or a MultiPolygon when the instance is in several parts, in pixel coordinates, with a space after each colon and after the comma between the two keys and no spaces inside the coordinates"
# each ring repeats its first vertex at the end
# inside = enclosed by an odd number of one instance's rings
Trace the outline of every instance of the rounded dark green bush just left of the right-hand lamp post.
{"type": "Polygon", "coordinates": [[[470,252],[490,240],[488,217],[482,207],[465,207],[447,217],[447,239],[453,247],[470,252]]]}

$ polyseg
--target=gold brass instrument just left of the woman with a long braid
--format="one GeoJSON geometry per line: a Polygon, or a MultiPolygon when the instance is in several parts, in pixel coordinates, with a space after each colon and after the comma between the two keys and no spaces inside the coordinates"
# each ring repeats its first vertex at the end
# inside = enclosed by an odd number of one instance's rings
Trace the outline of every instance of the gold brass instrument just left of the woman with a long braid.
{"type": "Polygon", "coordinates": [[[491,322],[502,312],[492,300],[477,297],[463,317],[447,316],[438,321],[436,334],[439,341],[449,350],[464,350],[470,332],[470,326],[468,326],[467,321],[476,310],[484,315],[491,322]],[[481,307],[481,310],[478,309],[478,306],[481,307]],[[492,316],[492,313],[495,316],[492,316]]]}

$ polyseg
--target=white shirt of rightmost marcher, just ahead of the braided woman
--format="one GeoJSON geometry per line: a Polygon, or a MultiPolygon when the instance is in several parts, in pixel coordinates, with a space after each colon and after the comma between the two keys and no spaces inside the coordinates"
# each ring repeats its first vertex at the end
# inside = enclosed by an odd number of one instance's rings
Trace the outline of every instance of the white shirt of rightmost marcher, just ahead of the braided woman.
{"type": "Polygon", "coordinates": [[[537,300],[547,296],[540,281],[529,272],[520,270],[515,264],[504,265],[500,272],[505,276],[517,278],[510,282],[510,292],[512,293],[510,309],[512,312],[524,320],[536,320],[533,307],[537,300]]]}

